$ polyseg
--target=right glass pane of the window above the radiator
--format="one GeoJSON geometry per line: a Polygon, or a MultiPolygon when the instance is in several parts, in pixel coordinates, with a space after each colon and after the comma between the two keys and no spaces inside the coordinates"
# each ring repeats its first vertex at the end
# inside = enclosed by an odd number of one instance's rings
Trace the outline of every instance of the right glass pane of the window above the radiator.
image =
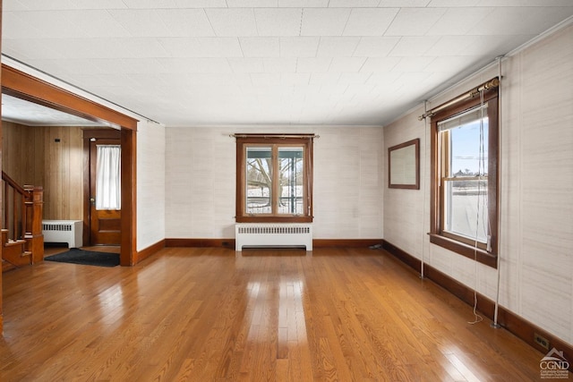
{"type": "Polygon", "coordinates": [[[304,149],[278,148],[278,213],[304,213],[304,149]]]}

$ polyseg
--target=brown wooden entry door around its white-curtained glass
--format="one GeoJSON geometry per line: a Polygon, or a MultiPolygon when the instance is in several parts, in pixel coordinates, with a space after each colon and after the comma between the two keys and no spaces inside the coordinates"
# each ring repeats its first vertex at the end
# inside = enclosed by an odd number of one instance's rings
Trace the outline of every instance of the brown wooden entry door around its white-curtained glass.
{"type": "Polygon", "coordinates": [[[92,139],[90,141],[90,244],[121,244],[121,209],[98,209],[96,207],[98,145],[120,145],[120,140],[92,139]]]}

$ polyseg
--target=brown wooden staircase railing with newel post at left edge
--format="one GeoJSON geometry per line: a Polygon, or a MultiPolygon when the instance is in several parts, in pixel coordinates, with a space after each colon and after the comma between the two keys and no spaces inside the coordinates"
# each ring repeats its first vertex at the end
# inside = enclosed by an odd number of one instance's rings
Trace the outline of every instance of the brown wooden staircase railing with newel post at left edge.
{"type": "Polygon", "coordinates": [[[44,259],[43,190],[21,187],[2,172],[2,272],[44,259]]]}

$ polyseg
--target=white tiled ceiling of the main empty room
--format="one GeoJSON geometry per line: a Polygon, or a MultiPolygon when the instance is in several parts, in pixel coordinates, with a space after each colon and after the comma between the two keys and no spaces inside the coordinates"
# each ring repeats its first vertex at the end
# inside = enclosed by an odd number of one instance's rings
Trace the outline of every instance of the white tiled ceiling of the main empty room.
{"type": "Polygon", "coordinates": [[[573,0],[4,0],[2,52],[167,126],[389,123],[573,0]]]}

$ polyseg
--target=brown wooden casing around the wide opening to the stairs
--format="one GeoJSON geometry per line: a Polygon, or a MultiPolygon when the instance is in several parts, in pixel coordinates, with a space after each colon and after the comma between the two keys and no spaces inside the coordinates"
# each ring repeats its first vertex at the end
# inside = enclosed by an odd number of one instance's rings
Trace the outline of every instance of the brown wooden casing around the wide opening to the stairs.
{"type": "MultiPolygon", "coordinates": [[[[1,0],[0,0],[1,2],[1,0]]],[[[1,3],[0,3],[1,4],[1,3]]],[[[13,97],[48,106],[72,115],[82,116],[92,121],[104,121],[121,127],[122,142],[122,245],[120,263],[122,266],[133,266],[137,260],[136,229],[136,160],[135,145],[137,120],[119,113],[107,106],[99,105],[87,98],[56,87],[2,64],[0,71],[2,91],[13,97]],[[4,77],[5,76],[5,77],[4,77]]],[[[1,143],[0,143],[1,144],[1,143]]],[[[1,300],[0,300],[1,301],[1,300]]]]}

